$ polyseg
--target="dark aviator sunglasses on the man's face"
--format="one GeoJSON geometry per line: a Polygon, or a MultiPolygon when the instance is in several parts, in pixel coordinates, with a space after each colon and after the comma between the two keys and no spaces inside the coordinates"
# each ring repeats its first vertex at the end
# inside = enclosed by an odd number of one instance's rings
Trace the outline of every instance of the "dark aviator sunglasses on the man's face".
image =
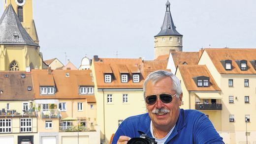
{"type": "Polygon", "coordinates": [[[176,93],[174,95],[166,93],[149,95],[145,98],[146,103],[148,105],[154,105],[157,101],[158,95],[163,103],[168,104],[172,101],[172,98],[176,95],[176,93]]]}

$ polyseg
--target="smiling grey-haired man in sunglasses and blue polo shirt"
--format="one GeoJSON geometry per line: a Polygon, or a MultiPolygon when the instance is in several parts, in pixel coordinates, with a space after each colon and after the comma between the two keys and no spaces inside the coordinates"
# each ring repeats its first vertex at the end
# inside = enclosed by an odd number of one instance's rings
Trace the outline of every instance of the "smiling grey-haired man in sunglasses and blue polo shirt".
{"type": "Polygon", "coordinates": [[[112,144],[127,144],[141,134],[155,138],[158,144],[224,144],[206,115],[180,109],[181,85],[171,72],[152,72],[143,90],[148,113],[124,120],[112,144]]]}

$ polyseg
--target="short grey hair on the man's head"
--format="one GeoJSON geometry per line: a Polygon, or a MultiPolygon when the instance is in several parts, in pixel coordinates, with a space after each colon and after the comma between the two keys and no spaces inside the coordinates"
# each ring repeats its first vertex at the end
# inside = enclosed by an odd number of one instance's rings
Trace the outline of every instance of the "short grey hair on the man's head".
{"type": "Polygon", "coordinates": [[[182,93],[180,80],[173,73],[165,70],[154,71],[147,76],[146,80],[143,83],[144,98],[145,98],[146,85],[148,84],[149,81],[152,81],[153,84],[156,84],[158,81],[166,77],[171,78],[173,82],[173,89],[171,90],[175,90],[176,96],[177,98],[179,98],[180,94],[182,93]]]}

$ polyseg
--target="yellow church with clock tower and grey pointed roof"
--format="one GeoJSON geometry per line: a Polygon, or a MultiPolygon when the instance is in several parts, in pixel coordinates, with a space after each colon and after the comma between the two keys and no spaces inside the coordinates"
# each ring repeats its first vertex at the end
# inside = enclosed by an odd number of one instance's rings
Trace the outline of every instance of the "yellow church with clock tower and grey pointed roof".
{"type": "Polygon", "coordinates": [[[4,0],[4,9],[0,19],[0,70],[42,69],[32,0],[4,0]]]}

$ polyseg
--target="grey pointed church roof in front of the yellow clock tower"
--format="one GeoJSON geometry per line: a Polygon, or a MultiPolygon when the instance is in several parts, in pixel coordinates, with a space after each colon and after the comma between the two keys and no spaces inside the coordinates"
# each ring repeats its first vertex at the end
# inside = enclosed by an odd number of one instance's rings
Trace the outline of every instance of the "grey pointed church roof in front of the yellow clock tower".
{"type": "Polygon", "coordinates": [[[0,44],[38,46],[23,28],[11,4],[0,19],[0,44]]]}

